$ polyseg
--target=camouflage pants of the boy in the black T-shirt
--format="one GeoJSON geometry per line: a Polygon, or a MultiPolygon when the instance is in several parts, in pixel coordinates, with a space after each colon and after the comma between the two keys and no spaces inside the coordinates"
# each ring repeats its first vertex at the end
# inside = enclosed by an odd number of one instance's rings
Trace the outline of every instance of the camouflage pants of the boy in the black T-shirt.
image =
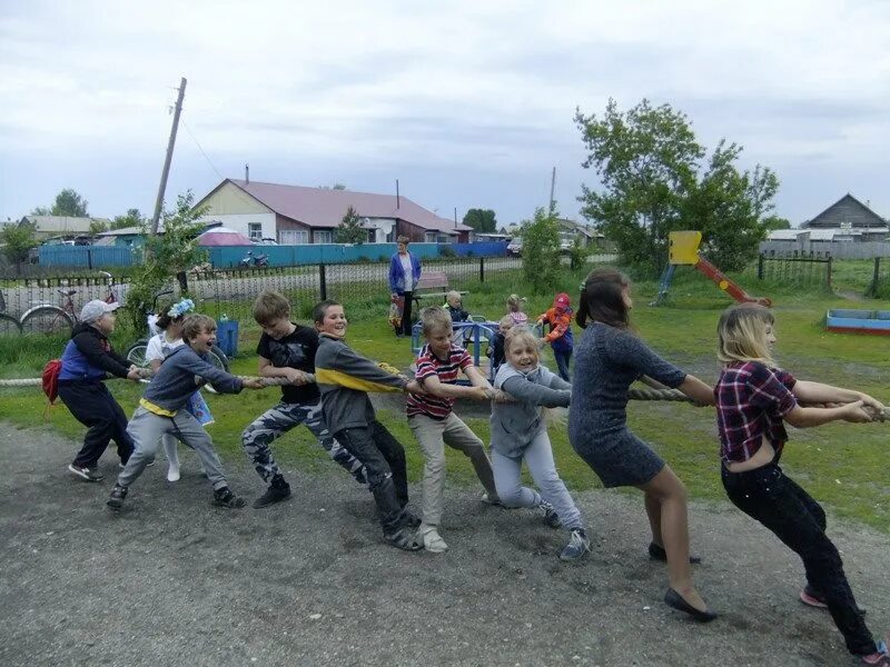
{"type": "Polygon", "coordinates": [[[305,425],[318,439],[328,456],[344,467],[359,484],[366,484],[365,466],[340,446],[327,430],[322,416],[322,401],[315,404],[279,402],[257,417],[241,434],[241,445],[264,481],[280,475],[269,445],[295,426],[305,425]]]}

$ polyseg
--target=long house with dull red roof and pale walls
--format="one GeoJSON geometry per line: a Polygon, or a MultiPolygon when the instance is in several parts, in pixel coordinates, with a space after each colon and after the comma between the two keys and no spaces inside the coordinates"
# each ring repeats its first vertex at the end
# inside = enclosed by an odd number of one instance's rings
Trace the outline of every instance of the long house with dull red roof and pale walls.
{"type": "Polygon", "coordinates": [[[368,242],[468,242],[473,231],[441,218],[407,197],[328,188],[306,188],[227,178],[197,202],[206,218],[236,229],[251,240],[283,245],[332,243],[334,230],[353,207],[368,230],[368,242]]]}

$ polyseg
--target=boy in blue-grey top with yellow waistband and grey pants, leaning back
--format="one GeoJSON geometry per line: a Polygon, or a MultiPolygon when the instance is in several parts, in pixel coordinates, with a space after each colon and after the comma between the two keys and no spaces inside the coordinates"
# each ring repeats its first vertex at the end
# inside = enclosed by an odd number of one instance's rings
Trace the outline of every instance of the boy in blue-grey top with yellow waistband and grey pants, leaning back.
{"type": "Polygon", "coordinates": [[[206,315],[190,315],[184,320],[182,340],[186,345],[176,348],[164,360],[127,427],[136,451],[111,489],[106,502],[111,509],[123,506],[130,485],[154,460],[164,435],[178,438],[198,452],[214,487],[214,505],[228,508],[245,506],[244,498],[236,496],[226,481],[210,436],[184,408],[195,389],[208,381],[222,394],[240,394],[244,387],[261,389],[264,385],[259,380],[240,380],[207,360],[207,352],[216,342],[216,322],[206,315]]]}

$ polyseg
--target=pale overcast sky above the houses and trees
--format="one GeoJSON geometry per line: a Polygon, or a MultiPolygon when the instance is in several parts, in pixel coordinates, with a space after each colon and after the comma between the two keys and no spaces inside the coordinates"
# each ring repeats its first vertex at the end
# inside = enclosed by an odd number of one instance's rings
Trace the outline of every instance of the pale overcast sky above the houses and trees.
{"type": "Polygon", "coordinates": [[[0,219],[75,188],[93,216],[222,177],[400,191],[451,218],[576,217],[576,107],[685,111],[782,181],[799,223],[851,192],[890,217],[890,2],[0,3],[0,219]],[[425,6],[426,8],[421,8],[425,6]],[[202,151],[201,151],[202,149],[202,151]],[[206,153],[206,157],[205,155],[206,153]]]}

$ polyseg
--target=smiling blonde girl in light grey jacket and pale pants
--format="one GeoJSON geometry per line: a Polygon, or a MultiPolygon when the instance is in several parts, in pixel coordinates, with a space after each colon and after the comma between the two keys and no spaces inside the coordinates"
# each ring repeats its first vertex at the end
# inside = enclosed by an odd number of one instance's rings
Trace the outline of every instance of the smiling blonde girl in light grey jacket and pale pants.
{"type": "Polygon", "coordinates": [[[568,407],[572,385],[540,364],[538,340],[514,328],[504,344],[506,362],[497,369],[494,386],[514,401],[492,404],[492,468],[501,502],[507,507],[537,508],[553,528],[568,528],[562,560],[577,560],[591,550],[584,521],[565,484],[556,472],[543,408],[568,407]],[[522,462],[541,489],[522,486],[522,462]]]}

